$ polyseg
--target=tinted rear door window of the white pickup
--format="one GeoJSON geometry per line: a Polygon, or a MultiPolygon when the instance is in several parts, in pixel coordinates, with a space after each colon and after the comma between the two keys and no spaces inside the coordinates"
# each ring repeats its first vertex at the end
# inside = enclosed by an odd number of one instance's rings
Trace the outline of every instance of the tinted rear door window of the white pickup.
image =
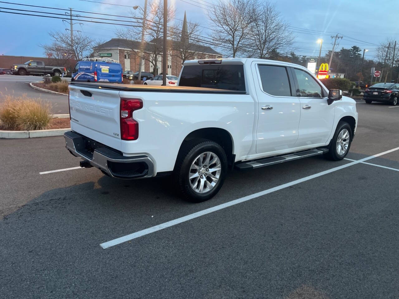
{"type": "Polygon", "coordinates": [[[258,65],[264,92],[273,96],[291,96],[291,87],[285,67],[258,65]]]}

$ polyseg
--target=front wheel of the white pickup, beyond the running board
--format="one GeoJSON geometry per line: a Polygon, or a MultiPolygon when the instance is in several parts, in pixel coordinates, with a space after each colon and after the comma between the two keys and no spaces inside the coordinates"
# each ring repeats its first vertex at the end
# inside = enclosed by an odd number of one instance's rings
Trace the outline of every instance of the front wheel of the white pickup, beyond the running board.
{"type": "Polygon", "coordinates": [[[330,142],[330,146],[328,146],[328,153],[325,153],[324,157],[332,161],[340,161],[344,159],[349,152],[350,145],[352,144],[352,136],[353,132],[350,125],[347,122],[339,122],[330,142]],[[340,142],[340,147],[338,147],[338,141],[341,140],[341,138],[342,142],[340,142]]]}

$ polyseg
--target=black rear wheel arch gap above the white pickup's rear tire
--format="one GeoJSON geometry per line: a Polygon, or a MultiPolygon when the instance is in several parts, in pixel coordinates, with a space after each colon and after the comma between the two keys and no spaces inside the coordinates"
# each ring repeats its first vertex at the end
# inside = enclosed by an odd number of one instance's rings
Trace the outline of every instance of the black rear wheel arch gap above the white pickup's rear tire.
{"type": "MultiPolygon", "coordinates": [[[[222,129],[222,128],[201,128],[194,130],[190,132],[182,141],[180,144],[179,148],[179,153],[180,150],[182,149],[182,146],[184,143],[193,140],[193,139],[208,139],[211,141],[214,141],[224,149],[226,156],[227,156],[227,161],[229,163],[229,166],[234,165],[234,160],[235,160],[235,155],[234,155],[234,141],[233,137],[229,133],[229,131],[222,129]]],[[[176,164],[176,162],[175,162],[176,164]]]]}

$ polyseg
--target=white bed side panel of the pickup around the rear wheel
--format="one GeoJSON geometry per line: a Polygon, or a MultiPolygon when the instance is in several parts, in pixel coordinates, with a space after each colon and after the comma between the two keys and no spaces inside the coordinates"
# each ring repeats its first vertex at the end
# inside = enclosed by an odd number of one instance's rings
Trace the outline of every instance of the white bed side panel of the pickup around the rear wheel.
{"type": "Polygon", "coordinates": [[[120,91],[119,95],[143,101],[143,108],[133,113],[139,122],[138,139],[122,140],[121,151],[150,156],[156,172],[173,170],[184,138],[201,128],[227,130],[237,157],[251,148],[254,101],[249,94],[120,91]]]}

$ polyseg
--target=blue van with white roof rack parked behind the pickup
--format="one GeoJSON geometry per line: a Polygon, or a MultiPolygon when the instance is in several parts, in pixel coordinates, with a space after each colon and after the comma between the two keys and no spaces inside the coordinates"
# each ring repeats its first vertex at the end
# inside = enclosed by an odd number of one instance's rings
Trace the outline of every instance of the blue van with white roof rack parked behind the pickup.
{"type": "Polygon", "coordinates": [[[78,61],[71,82],[122,83],[122,65],[112,61],[78,61]]]}

